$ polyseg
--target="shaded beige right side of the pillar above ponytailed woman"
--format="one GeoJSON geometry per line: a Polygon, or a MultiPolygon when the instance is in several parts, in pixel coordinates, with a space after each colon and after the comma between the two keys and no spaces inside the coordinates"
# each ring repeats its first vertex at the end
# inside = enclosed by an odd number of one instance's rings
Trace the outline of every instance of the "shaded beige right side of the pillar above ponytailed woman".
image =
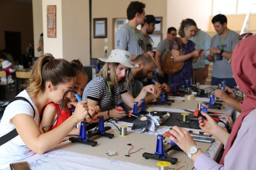
{"type": "Polygon", "coordinates": [[[62,1],[63,58],[90,65],[89,0],[62,1]]]}

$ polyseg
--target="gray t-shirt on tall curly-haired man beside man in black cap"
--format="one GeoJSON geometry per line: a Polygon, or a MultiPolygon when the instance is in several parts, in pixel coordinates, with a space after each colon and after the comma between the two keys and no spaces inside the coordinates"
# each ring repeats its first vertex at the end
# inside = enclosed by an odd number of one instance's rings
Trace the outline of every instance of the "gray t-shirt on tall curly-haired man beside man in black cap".
{"type": "Polygon", "coordinates": [[[139,45],[136,35],[133,33],[133,29],[128,24],[125,24],[115,35],[115,49],[126,50],[136,56],[144,53],[142,47],[143,40],[138,31],[139,30],[134,30],[137,37],[141,40],[141,45],[139,45]]]}

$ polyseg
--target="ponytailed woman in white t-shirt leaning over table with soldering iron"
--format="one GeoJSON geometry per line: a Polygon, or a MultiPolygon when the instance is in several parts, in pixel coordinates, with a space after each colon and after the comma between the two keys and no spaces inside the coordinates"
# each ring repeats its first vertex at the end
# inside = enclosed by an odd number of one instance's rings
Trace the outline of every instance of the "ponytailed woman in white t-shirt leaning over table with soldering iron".
{"type": "MultiPolygon", "coordinates": [[[[26,90],[18,94],[28,99],[31,105],[23,100],[13,101],[6,107],[0,122],[0,136],[15,128],[18,132],[18,136],[0,146],[0,169],[35,153],[44,154],[62,141],[78,122],[85,119],[88,115],[86,101],[81,101],[74,114],[55,129],[46,133],[41,133],[39,129],[44,106],[50,102],[60,103],[64,93],[72,90],[75,83],[76,72],[65,59],[55,59],[48,53],[37,59],[26,90]]],[[[68,92],[66,97],[70,96],[71,92],[68,92]]],[[[92,112],[97,111],[93,107],[91,109],[92,112]]]]}

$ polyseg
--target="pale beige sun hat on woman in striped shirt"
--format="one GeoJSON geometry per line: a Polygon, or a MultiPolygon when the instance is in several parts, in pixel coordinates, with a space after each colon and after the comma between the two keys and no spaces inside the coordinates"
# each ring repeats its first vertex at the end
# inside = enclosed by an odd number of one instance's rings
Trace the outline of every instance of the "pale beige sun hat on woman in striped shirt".
{"type": "Polygon", "coordinates": [[[138,64],[131,63],[131,54],[128,51],[120,49],[112,50],[108,58],[99,58],[99,60],[106,63],[120,63],[128,68],[139,67],[138,64]]]}

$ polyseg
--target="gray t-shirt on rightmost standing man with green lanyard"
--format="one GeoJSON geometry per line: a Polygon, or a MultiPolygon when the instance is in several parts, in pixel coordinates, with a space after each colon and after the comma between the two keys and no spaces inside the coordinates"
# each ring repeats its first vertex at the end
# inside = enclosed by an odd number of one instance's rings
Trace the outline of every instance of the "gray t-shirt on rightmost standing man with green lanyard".
{"type": "MultiPolygon", "coordinates": [[[[232,30],[230,30],[225,38],[220,37],[219,34],[214,35],[211,39],[211,47],[219,48],[220,44],[222,44],[222,50],[227,52],[232,52],[235,48],[235,45],[239,42],[238,34],[232,30]]],[[[212,68],[212,77],[224,79],[224,78],[233,78],[232,67],[228,63],[225,57],[222,57],[222,60],[217,60],[217,56],[219,54],[214,55],[214,63],[212,68]]]]}

